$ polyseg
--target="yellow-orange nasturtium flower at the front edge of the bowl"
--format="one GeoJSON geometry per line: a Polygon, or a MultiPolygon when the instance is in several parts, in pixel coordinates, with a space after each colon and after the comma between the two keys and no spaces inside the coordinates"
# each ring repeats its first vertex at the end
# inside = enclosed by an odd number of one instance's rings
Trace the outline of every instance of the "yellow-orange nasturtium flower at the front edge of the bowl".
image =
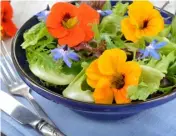
{"type": "Polygon", "coordinates": [[[95,103],[130,103],[127,88],[138,85],[141,68],[137,62],[127,61],[126,53],[120,49],[106,50],[86,70],[87,83],[95,88],[95,103]]]}

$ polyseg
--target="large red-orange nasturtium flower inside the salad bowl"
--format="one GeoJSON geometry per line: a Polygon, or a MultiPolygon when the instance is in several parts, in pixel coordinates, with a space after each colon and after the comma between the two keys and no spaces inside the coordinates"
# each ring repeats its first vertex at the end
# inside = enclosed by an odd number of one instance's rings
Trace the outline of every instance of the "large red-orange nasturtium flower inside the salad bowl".
{"type": "Polygon", "coordinates": [[[51,8],[46,25],[51,35],[58,38],[60,45],[73,47],[93,38],[91,24],[99,23],[99,18],[99,13],[87,4],[76,7],[58,2],[51,8]]]}

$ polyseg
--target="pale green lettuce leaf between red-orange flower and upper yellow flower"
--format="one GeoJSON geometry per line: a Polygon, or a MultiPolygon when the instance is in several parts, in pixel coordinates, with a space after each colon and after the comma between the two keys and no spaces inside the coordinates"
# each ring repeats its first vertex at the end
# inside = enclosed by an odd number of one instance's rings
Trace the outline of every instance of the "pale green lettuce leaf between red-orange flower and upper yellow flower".
{"type": "Polygon", "coordinates": [[[125,47],[125,43],[121,39],[121,35],[117,34],[120,31],[120,22],[118,21],[119,19],[121,20],[122,17],[109,15],[104,17],[100,25],[92,24],[94,39],[97,42],[105,40],[107,49],[125,47]]]}

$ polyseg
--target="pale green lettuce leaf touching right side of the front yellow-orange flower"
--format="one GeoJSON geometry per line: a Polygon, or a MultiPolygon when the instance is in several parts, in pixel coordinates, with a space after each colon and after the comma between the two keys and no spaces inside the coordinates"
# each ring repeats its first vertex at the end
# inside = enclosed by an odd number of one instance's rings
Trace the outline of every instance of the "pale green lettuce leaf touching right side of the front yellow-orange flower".
{"type": "Polygon", "coordinates": [[[141,65],[141,69],[139,85],[128,87],[128,97],[131,100],[145,101],[149,95],[158,91],[160,81],[165,76],[159,70],[149,66],[141,65]]]}

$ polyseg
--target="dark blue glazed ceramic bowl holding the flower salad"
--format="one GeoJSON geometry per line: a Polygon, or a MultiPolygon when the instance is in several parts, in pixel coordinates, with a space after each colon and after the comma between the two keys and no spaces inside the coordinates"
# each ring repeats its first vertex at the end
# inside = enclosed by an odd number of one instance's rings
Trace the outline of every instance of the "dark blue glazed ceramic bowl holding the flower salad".
{"type": "MultiPolygon", "coordinates": [[[[163,11],[162,15],[164,17],[172,17],[173,15],[163,11]]],[[[171,22],[171,19],[168,20],[171,22]]],[[[54,92],[52,89],[49,89],[41,83],[40,79],[36,77],[29,69],[29,64],[26,61],[25,50],[21,48],[23,43],[23,33],[31,28],[33,25],[37,24],[39,21],[36,16],[30,18],[17,32],[16,36],[12,42],[12,59],[15,65],[15,68],[19,72],[19,75],[23,81],[35,92],[39,93],[43,97],[63,104],[66,107],[85,115],[86,117],[93,117],[95,119],[121,119],[128,117],[144,111],[146,109],[159,106],[164,104],[172,99],[176,98],[176,92],[171,92],[167,95],[161,95],[152,99],[149,99],[145,102],[132,102],[130,104],[121,104],[121,105],[101,105],[94,103],[80,102],[72,100],[69,98],[63,97],[61,94],[54,92]]]]}

